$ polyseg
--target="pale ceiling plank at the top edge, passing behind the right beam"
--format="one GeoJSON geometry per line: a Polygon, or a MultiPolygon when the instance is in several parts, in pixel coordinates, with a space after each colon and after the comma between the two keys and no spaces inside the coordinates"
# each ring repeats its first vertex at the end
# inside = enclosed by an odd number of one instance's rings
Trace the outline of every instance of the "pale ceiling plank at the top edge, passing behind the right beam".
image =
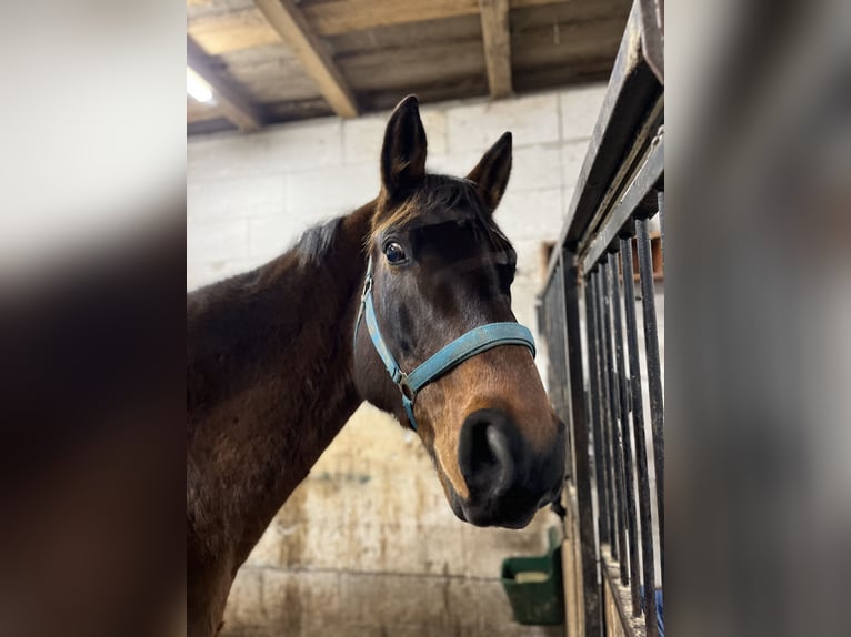
{"type": "MultiPolygon", "coordinates": [[[[582,1],[594,2],[595,0],[582,1]]],[[[510,0],[509,2],[511,9],[554,3],[565,3],[565,0],[510,0]]],[[[337,36],[426,20],[478,16],[479,0],[328,0],[302,2],[302,11],[317,34],[337,36]]]]}

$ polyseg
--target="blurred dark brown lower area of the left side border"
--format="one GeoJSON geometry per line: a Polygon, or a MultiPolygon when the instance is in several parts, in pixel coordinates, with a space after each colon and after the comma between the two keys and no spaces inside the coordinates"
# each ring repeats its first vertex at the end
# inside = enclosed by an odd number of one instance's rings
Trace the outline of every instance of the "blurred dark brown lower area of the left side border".
{"type": "Polygon", "coordinates": [[[184,212],[0,283],[4,635],[184,630],[184,212]]]}

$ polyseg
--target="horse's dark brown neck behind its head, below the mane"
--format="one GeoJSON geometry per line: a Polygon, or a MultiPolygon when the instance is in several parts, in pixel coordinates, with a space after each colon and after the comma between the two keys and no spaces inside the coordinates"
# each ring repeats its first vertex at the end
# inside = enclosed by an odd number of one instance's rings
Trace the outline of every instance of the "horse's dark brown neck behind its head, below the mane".
{"type": "Polygon", "coordinates": [[[352,335],[371,215],[308,231],[189,300],[188,506],[222,525],[197,530],[229,537],[238,562],[361,402],[352,335]]]}

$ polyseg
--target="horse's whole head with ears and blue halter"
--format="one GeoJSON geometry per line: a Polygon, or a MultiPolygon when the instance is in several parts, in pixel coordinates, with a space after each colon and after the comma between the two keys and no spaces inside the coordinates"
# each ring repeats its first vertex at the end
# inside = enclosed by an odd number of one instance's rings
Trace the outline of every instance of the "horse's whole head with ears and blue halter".
{"type": "Polygon", "coordinates": [[[561,491],[565,427],[511,311],[517,255],[493,213],[503,134],[463,179],[426,172],[417,99],[394,110],[354,330],[361,396],[417,431],[455,515],[522,528],[561,491]]]}

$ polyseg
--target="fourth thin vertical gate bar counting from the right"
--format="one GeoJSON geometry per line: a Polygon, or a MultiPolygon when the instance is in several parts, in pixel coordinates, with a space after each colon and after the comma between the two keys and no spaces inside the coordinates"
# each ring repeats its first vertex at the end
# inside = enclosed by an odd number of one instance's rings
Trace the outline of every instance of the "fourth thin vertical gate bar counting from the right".
{"type": "Polygon", "coordinates": [[[623,488],[623,452],[621,433],[618,426],[620,419],[620,394],[618,392],[618,371],[614,364],[614,347],[612,336],[612,300],[611,269],[608,261],[600,262],[603,274],[603,336],[605,341],[605,370],[609,378],[609,424],[612,444],[612,461],[614,467],[614,489],[618,503],[618,562],[621,568],[621,583],[629,584],[629,549],[627,548],[627,503],[623,488]]]}

